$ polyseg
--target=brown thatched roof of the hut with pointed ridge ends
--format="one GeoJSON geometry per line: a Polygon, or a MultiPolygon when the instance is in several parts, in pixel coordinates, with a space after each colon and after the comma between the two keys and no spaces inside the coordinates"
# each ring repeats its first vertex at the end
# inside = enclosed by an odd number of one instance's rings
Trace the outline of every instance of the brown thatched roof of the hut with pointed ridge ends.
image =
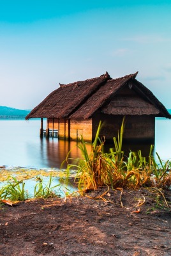
{"type": "Polygon", "coordinates": [[[36,106],[26,119],[88,119],[96,112],[171,118],[167,109],[152,92],[135,79],[137,73],[112,79],[106,72],[93,79],[60,84],[60,87],[36,106]]]}

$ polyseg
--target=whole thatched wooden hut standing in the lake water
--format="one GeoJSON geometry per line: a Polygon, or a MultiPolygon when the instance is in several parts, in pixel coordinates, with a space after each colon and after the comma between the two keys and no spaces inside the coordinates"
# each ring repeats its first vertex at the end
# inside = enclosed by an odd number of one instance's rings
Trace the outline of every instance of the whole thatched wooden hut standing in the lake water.
{"type": "Polygon", "coordinates": [[[47,118],[47,137],[57,131],[58,137],[68,140],[92,141],[100,120],[101,136],[111,140],[117,135],[123,116],[126,116],[124,141],[154,143],[155,118],[171,118],[167,109],[135,74],[112,79],[106,72],[100,77],[60,84],[50,93],[29,118],[47,118]],[[51,131],[51,133],[50,133],[51,131]]]}

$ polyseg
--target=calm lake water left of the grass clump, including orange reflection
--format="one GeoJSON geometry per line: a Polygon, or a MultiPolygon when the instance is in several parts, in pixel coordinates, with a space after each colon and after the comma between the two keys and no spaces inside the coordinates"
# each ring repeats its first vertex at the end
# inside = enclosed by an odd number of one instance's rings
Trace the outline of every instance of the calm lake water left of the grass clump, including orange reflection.
{"type": "Polygon", "coordinates": [[[39,131],[40,120],[0,120],[0,165],[60,168],[71,148],[70,157],[80,157],[75,141],[41,139],[39,131]]]}

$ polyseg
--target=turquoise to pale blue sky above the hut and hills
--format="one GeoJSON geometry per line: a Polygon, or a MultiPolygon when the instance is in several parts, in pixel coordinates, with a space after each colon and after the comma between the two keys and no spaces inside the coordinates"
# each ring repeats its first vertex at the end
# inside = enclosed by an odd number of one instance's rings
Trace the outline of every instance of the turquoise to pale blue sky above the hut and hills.
{"type": "Polygon", "coordinates": [[[33,109],[59,83],[138,71],[171,109],[170,13],[170,0],[0,0],[0,106],[33,109]]]}

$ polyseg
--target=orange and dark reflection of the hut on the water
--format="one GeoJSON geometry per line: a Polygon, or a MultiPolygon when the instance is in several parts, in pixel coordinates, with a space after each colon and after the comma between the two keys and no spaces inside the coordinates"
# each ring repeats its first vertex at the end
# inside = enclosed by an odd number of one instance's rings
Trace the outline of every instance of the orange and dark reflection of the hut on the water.
{"type": "MultiPolygon", "coordinates": [[[[76,160],[82,158],[82,152],[78,148],[77,141],[59,140],[58,138],[41,138],[40,140],[41,159],[43,159],[45,166],[50,166],[50,168],[66,168],[67,163],[64,161],[66,157],[68,157],[68,163],[70,164],[76,164],[76,160]],[[62,163],[63,165],[61,166],[62,163]]],[[[90,153],[91,143],[86,143],[86,145],[87,151],[90,153]]],[[[148,159],[150,146],[150,144],[123,144],[124,157],[127,158],[130,151],[137,152],[137,150],[141,150],[142,156],[148,159]]],[[[104,152],[109,152],[110,148],[114,148],[114,143],[105,143],[103,150],[104,152]]]]}

